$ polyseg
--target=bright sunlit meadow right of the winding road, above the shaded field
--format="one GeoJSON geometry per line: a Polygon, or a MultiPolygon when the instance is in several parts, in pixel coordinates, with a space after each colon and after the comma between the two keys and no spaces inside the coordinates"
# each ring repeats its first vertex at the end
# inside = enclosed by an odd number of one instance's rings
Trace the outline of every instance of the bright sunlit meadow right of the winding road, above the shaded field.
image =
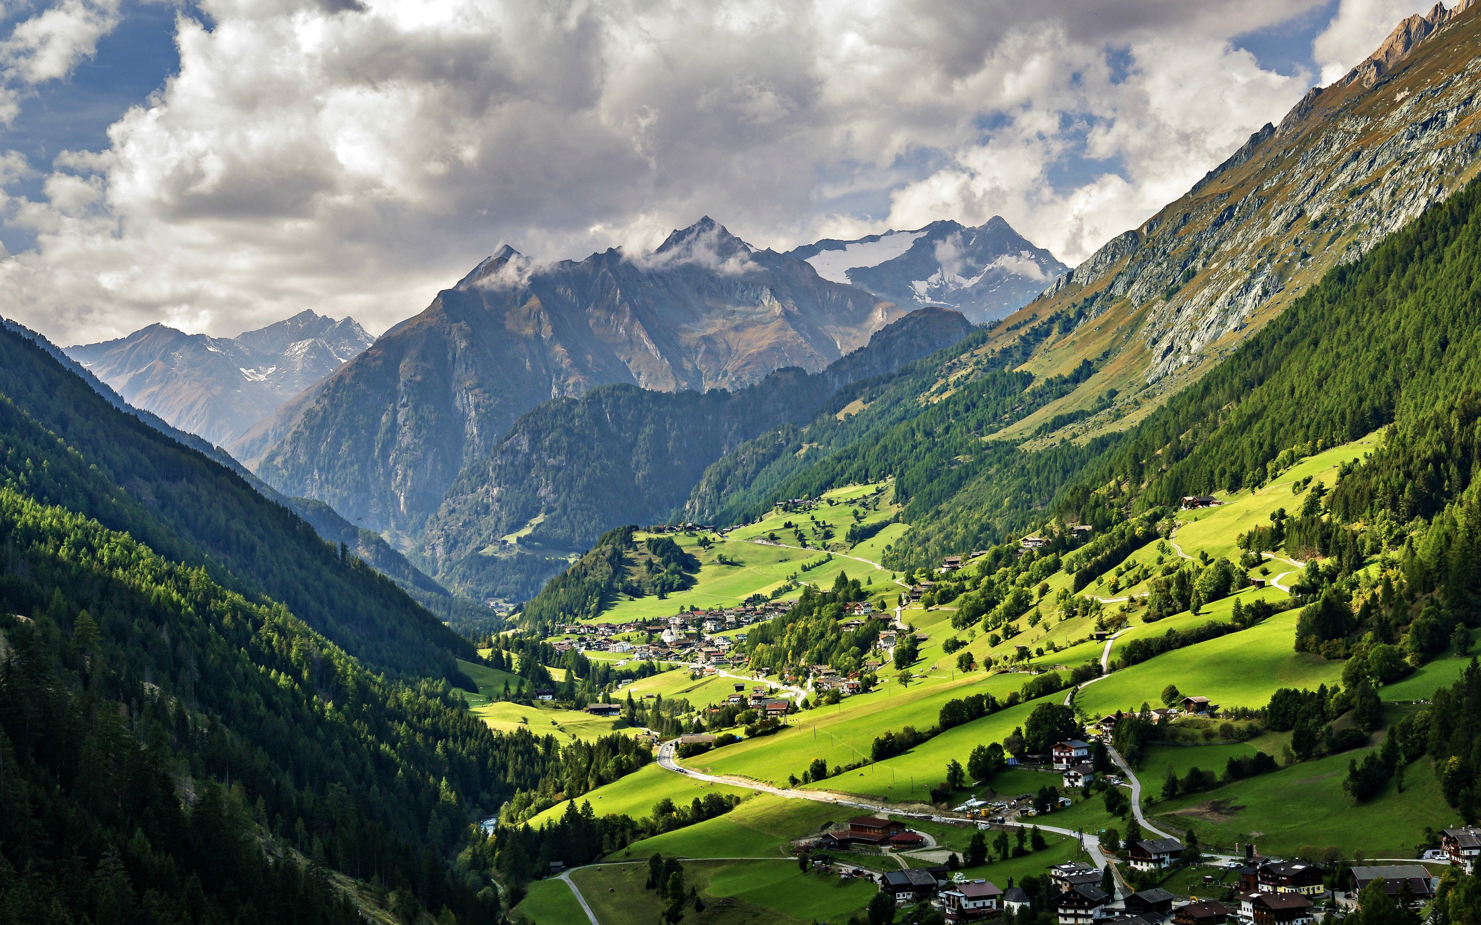
{"type": "Polygon", "coordinates": [[[1281,687],[1340,684],[1342,662],[1294,651],[1299,613],[1288,610],[1259,626],[1112,672],[1080,690],[1075,706],[1090,716],[1136,710],[1142,703],[1160,706],[1163,688],[1176,684],[1185,696],[1220,706],[1260,707],[1281,687]]]}

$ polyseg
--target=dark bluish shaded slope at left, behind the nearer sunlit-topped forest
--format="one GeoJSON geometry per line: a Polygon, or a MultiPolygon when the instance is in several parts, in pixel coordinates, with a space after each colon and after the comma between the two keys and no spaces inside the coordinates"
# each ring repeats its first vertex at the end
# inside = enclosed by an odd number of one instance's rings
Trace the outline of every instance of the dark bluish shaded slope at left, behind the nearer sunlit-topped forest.
{"type": "Polygon", "coordinates": [[[0,484],[65,505],[252,601],[286,604],[378,670],[456,678],[471,653],[388,579],[287,508],[108,403],[0,330],[0,484]]]}

